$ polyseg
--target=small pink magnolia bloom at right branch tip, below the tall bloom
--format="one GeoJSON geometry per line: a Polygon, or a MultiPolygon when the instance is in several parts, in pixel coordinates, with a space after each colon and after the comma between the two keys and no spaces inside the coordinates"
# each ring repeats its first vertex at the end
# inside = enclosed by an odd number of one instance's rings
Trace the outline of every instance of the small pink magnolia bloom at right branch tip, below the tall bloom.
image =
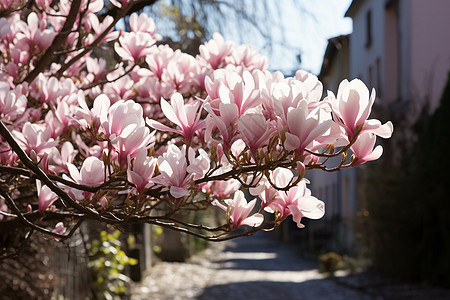
{"type": "Polygon", "coordinates": [[[356,142],[350,147],[355,156],[352,166],[357,166],[367,161],[380,158],[383,154],[383,147],[378,145],[373,149],[376,139],[376,135],[370,132],[364,132],[358,136],[356,142]]]}

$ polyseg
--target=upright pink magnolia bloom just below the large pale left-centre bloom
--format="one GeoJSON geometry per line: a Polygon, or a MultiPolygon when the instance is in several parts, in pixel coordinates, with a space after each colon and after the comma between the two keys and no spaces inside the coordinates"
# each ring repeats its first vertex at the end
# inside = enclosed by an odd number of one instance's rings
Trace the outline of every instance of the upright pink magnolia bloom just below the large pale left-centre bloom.
{"type": "Polygon", "coordinates": [[[134,164],[131,163],[131,158],[128,156],[127,179],[136,186],[139,193],[142,193],[152,182],[156,167],[156,158],[147,156],[147,150],[141,150],[134,159],[134,164]]]}

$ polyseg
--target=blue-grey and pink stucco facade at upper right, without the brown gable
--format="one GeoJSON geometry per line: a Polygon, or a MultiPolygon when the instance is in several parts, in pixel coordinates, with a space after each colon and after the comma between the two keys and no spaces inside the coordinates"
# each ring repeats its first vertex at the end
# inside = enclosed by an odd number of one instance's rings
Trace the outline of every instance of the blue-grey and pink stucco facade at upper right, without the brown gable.
{"type": "Polygon", "coordinates": [[[350,78],[405,106],[410,121],[425,104],[435,109],[450,70],[449,12],[447,0],[353,1],[350,78]]]}

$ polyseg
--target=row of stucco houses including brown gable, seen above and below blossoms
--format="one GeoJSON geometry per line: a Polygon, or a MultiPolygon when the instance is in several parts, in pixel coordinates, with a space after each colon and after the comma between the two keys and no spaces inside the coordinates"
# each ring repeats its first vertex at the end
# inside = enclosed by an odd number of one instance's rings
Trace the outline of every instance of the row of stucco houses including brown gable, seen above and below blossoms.
{"type": "MultiPolygon", "coordinates": [[[[329,40],[319,75],[324,88],[336,92],[343,78],[360,78],[375,88],[378,108],[410,126],[425,105],[433,110],[439,104],[450,71],[449,12],[448,0],[354,0],[345,14],[353,32],[329,40]]],[[[355,220],[365,213],[359,172],[311,174],[313,193],[326,203],[336,250],[351,252],[357,244],[355,220]]]]}

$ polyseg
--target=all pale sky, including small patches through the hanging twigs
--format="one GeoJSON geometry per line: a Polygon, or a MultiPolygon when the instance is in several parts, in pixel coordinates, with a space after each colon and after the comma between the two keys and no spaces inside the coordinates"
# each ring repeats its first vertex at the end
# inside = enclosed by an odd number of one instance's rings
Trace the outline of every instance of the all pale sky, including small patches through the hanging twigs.
{"type": "MultiPolygon", "coordinates": [[[[219,30],[220,33],[225,40],[231,40],[235,45],[251,45],[261,54],[268,56],[269,70],[278,70],[285,75],[292,75],[297,69],[319,74],[328,39],[352,31],[351,19],[344,18],[351,0],[239,1],[243,1],[244,6],[257,3],[258,7],[269,7],[270,15],[261,12],[257,21],[262,22],[261,26],[270,28],[272,47],[268,46],[267,40],[256,30],[241,27],[243,25],[236,19],[239,17],[234,15],[233,18],[233,13],[222,20],[224,26],[219,30]],[[301,64],[297,60],[299,54],[301,64]]],[[[170,5],[171,2],[160,0],[159,3],[170,5]]],[[[157,31],[163,35],[167,34],[165,24],[159,22],[156,24],[157,31]]],[[[167,28],[169,28],[167,32],[173,30],[170,26],[167,28]]]]}

